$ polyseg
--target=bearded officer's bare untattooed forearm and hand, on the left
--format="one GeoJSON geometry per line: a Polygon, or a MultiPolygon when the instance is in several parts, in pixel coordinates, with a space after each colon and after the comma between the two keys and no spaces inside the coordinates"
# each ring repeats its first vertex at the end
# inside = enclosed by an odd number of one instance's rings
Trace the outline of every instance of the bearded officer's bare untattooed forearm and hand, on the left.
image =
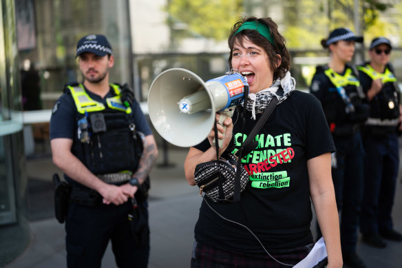
{"type": "Polygon", "coordinates": [[[70,138],[54,138],[50,141],[53,163],[74,181],[96,190],[109,203],[120,205],[127,202],[127,196],[120,187],[101,181],[72,154],[72,143],[70,138]]]}

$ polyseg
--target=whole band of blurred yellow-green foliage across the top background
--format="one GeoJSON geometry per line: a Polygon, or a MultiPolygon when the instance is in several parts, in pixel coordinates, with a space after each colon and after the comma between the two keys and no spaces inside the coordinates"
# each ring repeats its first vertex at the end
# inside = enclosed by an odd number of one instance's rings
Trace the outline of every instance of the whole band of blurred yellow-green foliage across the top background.
{"type": "MultiPolygon", "coordinates": [[[[173,43],[180,38],[204,37],[225,40],[235,21],[249,14],[269,14],[270,3],[250,4],[247,0],[168,0],[165,10],[171,28],[173,43]],[[248,8],[247,8],[248,7],[248,8]],[[263,11],[262,8],[266,8],[263,11]]],[[[401,2],[401,1],[399,1],[401,2]]],[[[282,0],[283,21],[277,21],[288,48],[320,49],[320,41],[328,37],[330,30],[339,27],[355,29],[355,0],[282,0]]],[[[372,36],[400,35],[397,25],[381,21],[381,13],[401,4],[384,3],[383,0],[360,0],[361,30],[366,41],[372,36]]],[[[402,19],[398,25],[402,25],[402,19]]],[[[395,23],[394,23],[395,24],[395,23]]],[[[174,45],[174,44],[173,44],[174,45]]]]}

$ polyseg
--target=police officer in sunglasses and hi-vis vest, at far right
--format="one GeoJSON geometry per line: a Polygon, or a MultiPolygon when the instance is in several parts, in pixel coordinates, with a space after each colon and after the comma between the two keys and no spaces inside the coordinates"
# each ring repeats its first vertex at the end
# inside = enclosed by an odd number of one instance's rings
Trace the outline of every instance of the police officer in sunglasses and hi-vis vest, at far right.
{"type": "Polygon", "coordinates": [[[386,247],[383,238],[402,241],[402,234],[392,225],[402,113],[399,86],[389,63],[391,50],[390,40],[373,39],[370,61],[358,67],[370,103],[363,135],[366,158],[360,231],[364,243],[379,248],[386,247]]]}

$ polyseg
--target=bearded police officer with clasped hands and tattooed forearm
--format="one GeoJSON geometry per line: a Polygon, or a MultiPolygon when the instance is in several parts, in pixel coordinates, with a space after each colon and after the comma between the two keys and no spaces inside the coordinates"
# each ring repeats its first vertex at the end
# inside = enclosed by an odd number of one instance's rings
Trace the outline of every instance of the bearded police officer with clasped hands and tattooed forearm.
{"type": "Polygon", "coordinates": [[[109,83],[114,56],[106,37],[83,37],[76,57],[84,81],[65,87],[50,120],[53,162],[69,189],[67,267],[100,267],[109,240],[118,267],[147,267],[156,141],[132,90],[109,83]]]}

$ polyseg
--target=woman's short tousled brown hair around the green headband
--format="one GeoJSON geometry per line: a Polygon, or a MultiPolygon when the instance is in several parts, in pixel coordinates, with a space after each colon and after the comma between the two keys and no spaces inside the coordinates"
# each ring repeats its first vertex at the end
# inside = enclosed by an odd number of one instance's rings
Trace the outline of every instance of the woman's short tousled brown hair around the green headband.
{"type": "Polygon", "coordinates": [[[233,25],[231,29],[231,34],[228,38],[228,45],[231,50],[229,54],[230,68],[232,68],[231,61],[233,45],[235,45],[236,42],[241,42],[243,39],[247,39],[248,41],[255,43],[255,45],[264,48],[266,54],[268,54],[268,61],[270,65],[269,67],[273,71],[274,79],[284,78],[286,72],[290,70],[290,54],[288,52],[288,49],[286,48],[286,41],[284,37],[279,34],[278,26],[271,18],[259,19],[257,17],[244,17],[233,25]],[[236,33],[237,29],[240,28],[240,26],[246,21],[257,21],[258,23],[264,23],[264,25],[268,27],[269,32],[271,33],[273,44],[256,30],[246,29],[236,33]],[[278,55],[280,55],[280,58],[278,55]],[[281,61],[281,64],[277,68],[275,68],[279,61],[281,61]]]}

